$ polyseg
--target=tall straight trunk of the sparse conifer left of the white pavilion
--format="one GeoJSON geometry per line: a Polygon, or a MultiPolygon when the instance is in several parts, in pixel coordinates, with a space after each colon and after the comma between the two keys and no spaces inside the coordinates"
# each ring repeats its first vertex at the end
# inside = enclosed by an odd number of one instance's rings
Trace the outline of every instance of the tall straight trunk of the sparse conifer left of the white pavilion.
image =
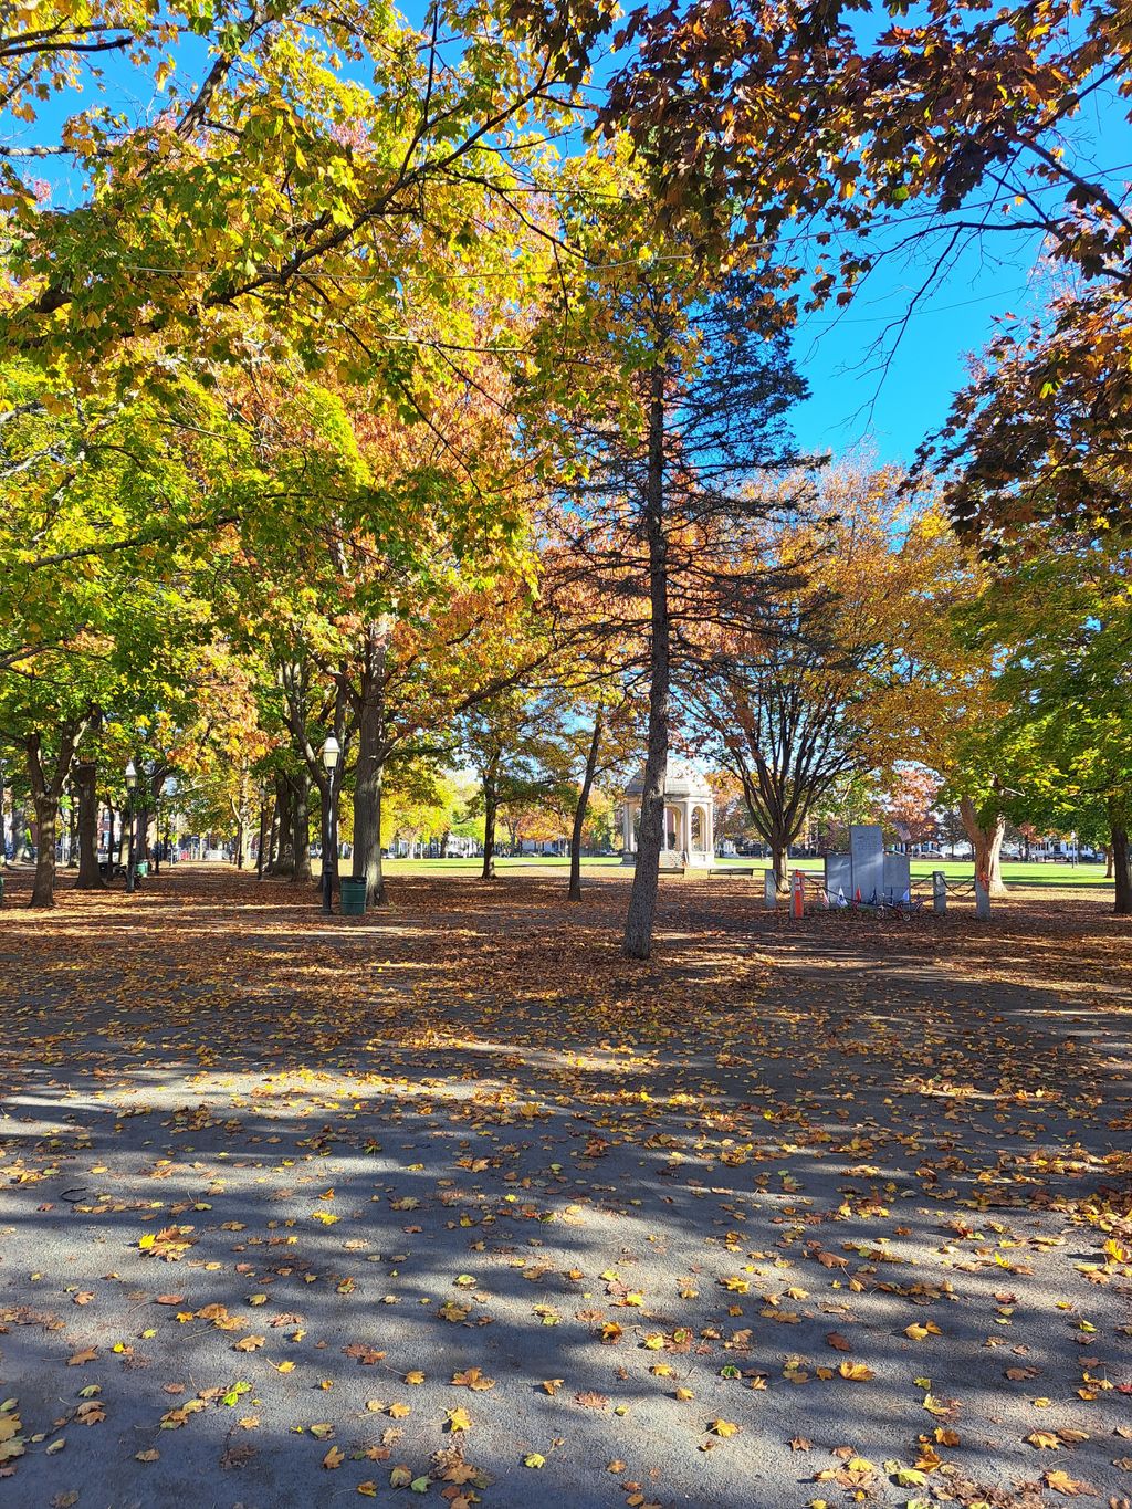
{"type": "Polygon", "coordinates": [[[664,367],[652,370],[649,401],[649,471],[644,512],[649,543],[649,735],[640,836],[625,919],[625,952],[648,958],[660,889],[664,845],[664,777],[669,767],[669,703],[672,696],[672,625],[669,620],[669,542],[664,531],[664,367]]]}

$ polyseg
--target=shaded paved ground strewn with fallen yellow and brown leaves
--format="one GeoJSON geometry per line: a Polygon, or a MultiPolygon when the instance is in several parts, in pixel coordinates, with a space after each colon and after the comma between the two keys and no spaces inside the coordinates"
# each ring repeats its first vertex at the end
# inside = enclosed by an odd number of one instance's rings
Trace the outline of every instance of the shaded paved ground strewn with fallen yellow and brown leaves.
{"type": "Polygon", "coordinates": [[[1124,1504],[1132,930],[755,884],[9,904],[0,1501],[1124,1504]]]}

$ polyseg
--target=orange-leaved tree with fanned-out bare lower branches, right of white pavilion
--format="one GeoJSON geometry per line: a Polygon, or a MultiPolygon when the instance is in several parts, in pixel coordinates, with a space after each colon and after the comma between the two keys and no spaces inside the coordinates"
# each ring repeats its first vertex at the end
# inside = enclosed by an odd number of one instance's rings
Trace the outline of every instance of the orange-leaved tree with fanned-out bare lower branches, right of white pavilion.
{"type": "Polygon", "coordinates": [[[759,614],[702,638],[688,691],[711,753],[738,779],[779,886],[811,813],[845,777],[915,747],[904,616],[934,585],[942,527],[894,468],[824,478],[815,518],[767,525],[759,614]]]}

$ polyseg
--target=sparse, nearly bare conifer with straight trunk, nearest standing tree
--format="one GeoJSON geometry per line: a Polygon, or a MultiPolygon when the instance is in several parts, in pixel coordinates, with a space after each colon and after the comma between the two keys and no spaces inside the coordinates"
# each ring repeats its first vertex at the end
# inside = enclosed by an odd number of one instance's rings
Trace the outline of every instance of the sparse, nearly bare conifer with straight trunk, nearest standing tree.
{"type": "Polygon", "coordinates": [[[699,282],[679,244],[595,278],[584,306],[595,392],[586,404],[554,395],[546,423],[569,459],[557,490],[577,572],[602,604],[605,634],[643,646],[648,753],[625,949],[644,958],[687,629],[749,610],[758,569],[750,558],[737,567],[735,536],[797,502],[768,504],[750,481],[797,466],[785,416],[804,383],[773,333],[767,291],[741,276],[699,282]]]}

